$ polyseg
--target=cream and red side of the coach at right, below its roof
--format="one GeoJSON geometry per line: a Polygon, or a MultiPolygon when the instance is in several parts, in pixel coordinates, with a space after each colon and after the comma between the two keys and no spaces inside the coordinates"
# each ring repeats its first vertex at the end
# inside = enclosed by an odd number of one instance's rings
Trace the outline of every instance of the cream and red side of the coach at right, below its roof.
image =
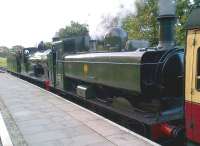
{"type": "Polygon", "coordinates": [[[200,142],[200,30],[188,32],[185,86],[187,136],[200,142]]]}

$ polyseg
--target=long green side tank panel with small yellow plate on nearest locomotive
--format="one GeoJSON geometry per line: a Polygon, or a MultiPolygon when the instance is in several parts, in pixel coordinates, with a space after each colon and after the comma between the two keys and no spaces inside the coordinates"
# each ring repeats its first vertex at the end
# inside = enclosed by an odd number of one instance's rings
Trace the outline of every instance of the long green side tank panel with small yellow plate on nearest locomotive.
{"type": "Polygon", "coordinates": [[[140,92],[143,52],[88,53],[65,56],[65,76],[110,87],[140,92]],[[84,72],[84,65],[88,72],[84,72]]]}

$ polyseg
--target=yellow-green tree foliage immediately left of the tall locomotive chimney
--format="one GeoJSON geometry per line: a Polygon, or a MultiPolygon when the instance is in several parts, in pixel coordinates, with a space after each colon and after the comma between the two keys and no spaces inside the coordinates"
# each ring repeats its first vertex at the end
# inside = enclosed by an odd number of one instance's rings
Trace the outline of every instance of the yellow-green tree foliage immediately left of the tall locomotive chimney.
{"type": "Polygon", "coordinates": [[[158,0],[135,2],[137,14],[127,16],[122,22],[129,39],[149,40],[152,45],[158,43],[157,4],[158,0]]]}

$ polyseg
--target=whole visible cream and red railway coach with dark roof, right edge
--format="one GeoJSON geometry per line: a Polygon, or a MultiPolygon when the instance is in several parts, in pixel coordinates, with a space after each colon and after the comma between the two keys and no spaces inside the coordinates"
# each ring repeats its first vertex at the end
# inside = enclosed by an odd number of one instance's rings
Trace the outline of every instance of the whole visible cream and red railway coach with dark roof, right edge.
{"type": "Polygon", "coordinates": [[[188,146],[200,145],[200,5],[197,4],[187,23],[185,53],[185,129],[188,146]]]}

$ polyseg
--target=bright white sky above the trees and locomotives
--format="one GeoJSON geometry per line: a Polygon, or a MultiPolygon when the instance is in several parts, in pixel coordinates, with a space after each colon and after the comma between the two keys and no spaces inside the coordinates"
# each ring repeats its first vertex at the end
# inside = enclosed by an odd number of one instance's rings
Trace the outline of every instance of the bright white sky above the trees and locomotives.
{"type": "Polygon", "coordinates": [[[87,23],[98,33],[103,15],[116,15],[120,5],[134,12],[135,0],[0,0],[0,46],[36,46],[51,41],[70,21],[87,23]]]}

